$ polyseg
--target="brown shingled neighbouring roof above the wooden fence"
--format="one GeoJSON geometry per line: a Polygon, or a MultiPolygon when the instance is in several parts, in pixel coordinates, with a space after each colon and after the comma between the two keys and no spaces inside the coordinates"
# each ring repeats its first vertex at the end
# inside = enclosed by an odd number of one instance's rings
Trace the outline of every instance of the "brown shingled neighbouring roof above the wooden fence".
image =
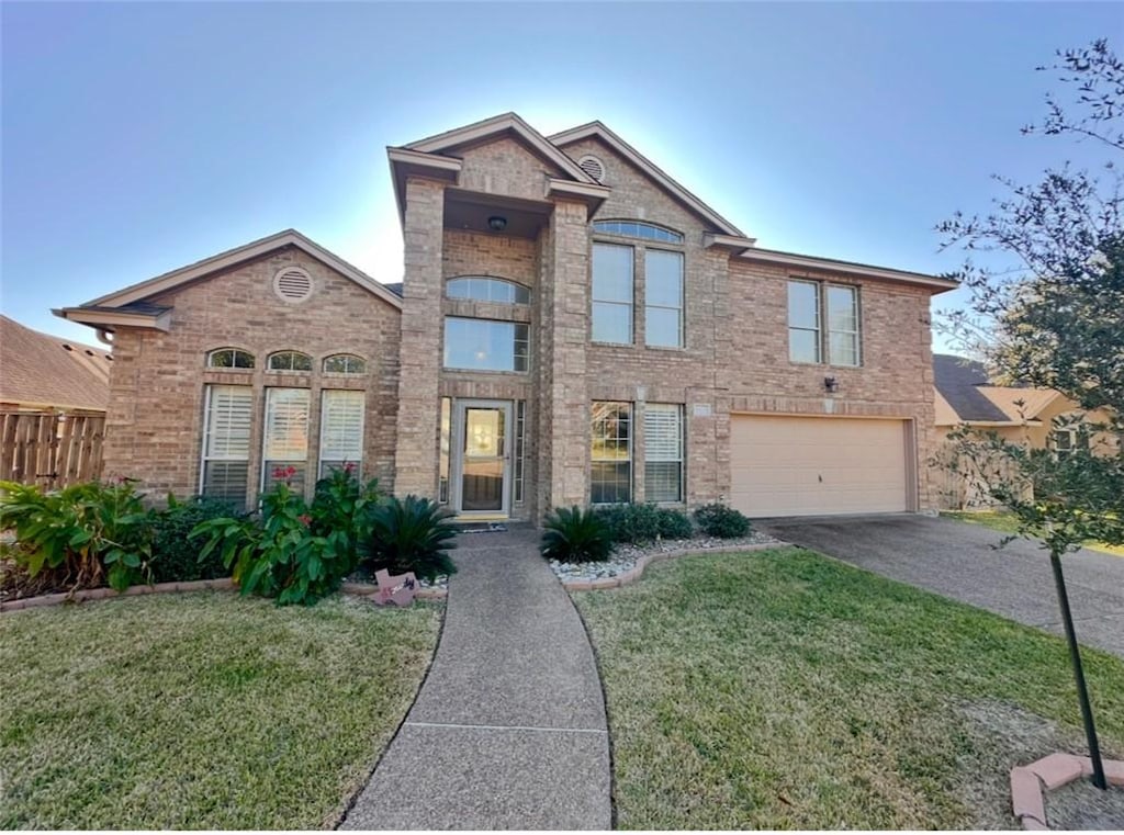
{"type": "Polygon", "coordinates": [[[105,411],[111,358],[105,347],[31,330],[0,315],[0,402],[105,411]]]}

